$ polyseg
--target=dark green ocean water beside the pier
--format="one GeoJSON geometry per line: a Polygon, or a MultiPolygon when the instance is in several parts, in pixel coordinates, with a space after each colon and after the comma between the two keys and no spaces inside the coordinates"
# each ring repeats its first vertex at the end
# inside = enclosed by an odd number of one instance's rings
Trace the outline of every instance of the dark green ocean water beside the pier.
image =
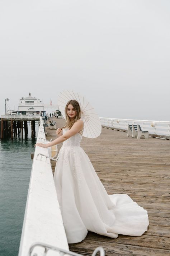
{"type": "Polygon", "coordinates": [[[0,141],[0,256],[17,256],[19,251],[36,143],[28,130],[27,138],[0,141]]]}

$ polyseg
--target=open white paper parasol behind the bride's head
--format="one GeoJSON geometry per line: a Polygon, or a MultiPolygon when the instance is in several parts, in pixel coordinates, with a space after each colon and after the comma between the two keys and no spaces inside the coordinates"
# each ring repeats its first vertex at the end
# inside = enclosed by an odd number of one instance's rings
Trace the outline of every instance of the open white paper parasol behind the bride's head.
{"type": "Polygon", "coordinates": [[[66,119],[65,107],[69,100],[77,100],[81,108],[81,119],[84,121],[84,131],[82,136],[87,138],[96,138],[101,133],[101,122],[98,114],[95,113],[94,108],[90,105],[88,100],[86,100],[79,93],[74,91],[62,91],[58,95],[58,107],[66,119]]]}

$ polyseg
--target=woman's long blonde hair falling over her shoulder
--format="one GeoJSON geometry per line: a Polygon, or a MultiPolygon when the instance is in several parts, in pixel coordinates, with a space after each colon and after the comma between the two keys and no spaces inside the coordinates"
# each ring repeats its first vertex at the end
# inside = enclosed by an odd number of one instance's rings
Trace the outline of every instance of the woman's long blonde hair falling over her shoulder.
{"type": "Polygon", "coordinates": [[[79,102],[77,102],[77,100],[69,100],[67,102],[66,107],[65,107],[65,115],[66,115],[65,126],[61,127],[61,129],[68,127],[70,130],[71,127],[74,125],[74,123],[81,118],[81,108],[80,108],[79,102]],[[72,120],[72,121],[67,114],[67,108],[68,108],[69,104],[71,104],[76,111],[76,116],[75,116],[74,120],[72,120]]]}

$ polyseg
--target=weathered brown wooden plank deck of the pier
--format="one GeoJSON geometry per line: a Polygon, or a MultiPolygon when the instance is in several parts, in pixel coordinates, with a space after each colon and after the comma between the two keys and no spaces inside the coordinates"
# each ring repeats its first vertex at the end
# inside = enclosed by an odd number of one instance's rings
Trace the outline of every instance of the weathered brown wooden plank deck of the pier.
{"type": "MultiPolygon", "coordinates": [[[[56,121],[58,127],[63,125],[63,120],[56,121]]],[[[47,139],[55,139],[56,130],[47,130],[47,139]]],[[[69,244],[70,251],[91,255],[102,246],[106,256],[170,255],[170,141],[137,140],[102,128],[98,138],[83,138],[81,147],[108,194],[128,194],[148,211],[150,225],[141,237],[118,235],[112,239],[88,232],[81,243],[69,244]]],[[[55,163],[52,161],[53,171],[55,163]]]]}

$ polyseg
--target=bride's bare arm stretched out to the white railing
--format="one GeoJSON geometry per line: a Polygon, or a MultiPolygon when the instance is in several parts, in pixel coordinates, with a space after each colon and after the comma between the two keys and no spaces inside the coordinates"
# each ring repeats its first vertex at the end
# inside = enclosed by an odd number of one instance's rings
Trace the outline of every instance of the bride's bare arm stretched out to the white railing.
{"type": "Polygon", "coordinates": [[[61,135],[59,138],[53,140],[52,142],[49,142],[47,144],[43,143],[36,143],[36,146],[43,147],[43,148],[49,148],[52,147],[53,145],[59,144],[61,142],[64,142],[65,140],[69,139],[70,137],[74,136],[75,134],[79,133],[83,129],[83,121],[78,120],[77,122],[74,123],[74,125],[71,127],[69,131],[67,131],[65,134],[61,135]]]}

